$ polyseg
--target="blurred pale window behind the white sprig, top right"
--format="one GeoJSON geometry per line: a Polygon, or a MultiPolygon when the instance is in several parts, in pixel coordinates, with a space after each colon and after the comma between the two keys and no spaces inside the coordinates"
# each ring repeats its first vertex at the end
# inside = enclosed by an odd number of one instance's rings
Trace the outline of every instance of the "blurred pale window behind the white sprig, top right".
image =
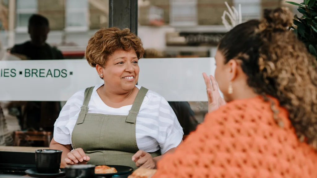
{"type": "Polygon", "coordinates": [[[241,16],[243,21],[259,19],[262,13],[261,0],[234,0],[235,8],[239,9],[241,4],[241,16]]]}

